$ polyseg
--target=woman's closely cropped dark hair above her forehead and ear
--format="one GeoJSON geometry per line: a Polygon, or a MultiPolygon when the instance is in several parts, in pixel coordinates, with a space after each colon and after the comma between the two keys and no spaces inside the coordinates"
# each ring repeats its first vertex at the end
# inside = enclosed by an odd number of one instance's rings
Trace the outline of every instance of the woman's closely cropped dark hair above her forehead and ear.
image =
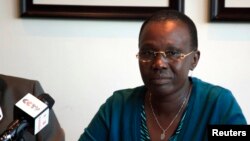
{"type": "Polygon", "coordinates": [[[152,23],[152,22],[162,22],[162,21],[168,21],[168,20],[180,21],[186,24],[189,30],[190,38],[191,38],[191,47],[193,49],[198,48],[197,29],[196,29],[194,22],[187,15],[181,12],[178,12],[176,10],[161,10],[151,15],[142,24],[140,33],[139,33],[139,39],[141,38],[141,33],[147,24],[152,23]]]}

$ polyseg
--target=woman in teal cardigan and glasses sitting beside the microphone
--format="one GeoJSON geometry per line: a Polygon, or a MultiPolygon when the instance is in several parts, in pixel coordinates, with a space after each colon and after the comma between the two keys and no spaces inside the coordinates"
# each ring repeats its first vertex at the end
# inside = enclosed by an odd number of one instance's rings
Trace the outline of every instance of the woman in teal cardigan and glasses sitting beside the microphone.
{"type": "Polygon", "coordinates": [[[137,57],[145,85],[114,92],[79,141],[201,141],[210,124],[246,124],[229,90],[188,77],[200,52],[186,15],[159,11],[146,20],[137,57]]]}

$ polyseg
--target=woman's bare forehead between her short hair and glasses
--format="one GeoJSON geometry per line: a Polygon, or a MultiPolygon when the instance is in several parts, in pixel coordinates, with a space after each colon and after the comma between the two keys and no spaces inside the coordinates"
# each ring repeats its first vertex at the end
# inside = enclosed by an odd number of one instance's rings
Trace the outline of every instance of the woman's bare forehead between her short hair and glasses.
{"type": "Polygon", "coordinates": [[[185,24],[176,21],[152,22],[141,33],[139,46],[156,45],[183,48],[191,39],[185,24]]]}

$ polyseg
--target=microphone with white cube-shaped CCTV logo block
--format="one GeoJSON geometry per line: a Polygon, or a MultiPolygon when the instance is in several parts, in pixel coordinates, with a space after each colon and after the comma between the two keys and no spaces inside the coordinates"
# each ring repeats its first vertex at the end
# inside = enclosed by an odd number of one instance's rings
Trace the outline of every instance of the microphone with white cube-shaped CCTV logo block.
{"type": "Polygon", "coordinates": [[[48,94],[37,98],[28,93],[14,106],[14,121],[1,134],[0,141],[13,141],[21,137],[23,131],[36,135],[49,123],[49,109],[55,101],[48,94]]]}

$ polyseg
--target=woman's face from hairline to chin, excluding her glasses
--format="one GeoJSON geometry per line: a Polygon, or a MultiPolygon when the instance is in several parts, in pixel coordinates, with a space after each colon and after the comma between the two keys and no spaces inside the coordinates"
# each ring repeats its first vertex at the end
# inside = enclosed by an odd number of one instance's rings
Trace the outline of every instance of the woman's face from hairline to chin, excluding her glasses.
{"type": "MultiPolygon", "coordinates": [[[[141,32],[139,51],[190,53],[191,38],[187,26],[172,20],[148,23],[141,32]]],[[[150,62],[139,61],[144,84],[155,93],[176,92],[188,80],[194,54],[170,61],[158,53],[150,62]]]]}

